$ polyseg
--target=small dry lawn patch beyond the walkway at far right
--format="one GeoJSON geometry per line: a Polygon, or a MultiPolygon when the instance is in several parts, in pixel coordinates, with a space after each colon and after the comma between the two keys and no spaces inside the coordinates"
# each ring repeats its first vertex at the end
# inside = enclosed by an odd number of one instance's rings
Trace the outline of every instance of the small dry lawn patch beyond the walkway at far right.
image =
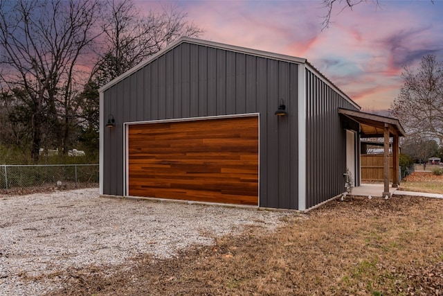
{"type": "Polygon", "coordinates": [[[415,171],[401,180],[400,190],[443,194],[443,175],[415,171]]]}

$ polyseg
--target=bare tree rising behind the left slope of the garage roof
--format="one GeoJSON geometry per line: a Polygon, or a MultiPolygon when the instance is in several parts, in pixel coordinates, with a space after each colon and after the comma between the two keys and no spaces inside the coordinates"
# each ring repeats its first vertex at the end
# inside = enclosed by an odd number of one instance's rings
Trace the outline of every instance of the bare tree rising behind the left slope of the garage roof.
{"type": "Polygon", "coordinates": [[[96,82],[103,85],[179,37],[198,37],[203,31],[187,20],[177,6],[141,15],[132,0],[109,0],[103,14],[105,51],[94,69],[96,82]]]}

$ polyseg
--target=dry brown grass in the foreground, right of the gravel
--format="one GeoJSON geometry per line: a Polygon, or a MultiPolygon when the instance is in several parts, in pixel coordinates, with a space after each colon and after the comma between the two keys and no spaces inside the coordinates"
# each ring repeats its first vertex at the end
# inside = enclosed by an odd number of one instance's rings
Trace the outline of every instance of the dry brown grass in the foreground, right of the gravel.
{"type": "MultiPolygon", "coordinates": [[[[443,200],[334,200],[174,259],[67,270],[53,295],[442,295],[443,200]]],[[[58,276],[58,275],[57,275],[58,276]]]]}

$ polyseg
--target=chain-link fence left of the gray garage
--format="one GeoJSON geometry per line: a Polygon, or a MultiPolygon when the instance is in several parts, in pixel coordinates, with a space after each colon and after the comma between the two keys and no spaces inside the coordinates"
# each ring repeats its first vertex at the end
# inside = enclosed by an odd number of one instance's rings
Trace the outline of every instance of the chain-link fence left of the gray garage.
{"type": "Polygon", "coordinates": [[[98,186],[98,164],[0,165],[0,190],[98,186]]]}

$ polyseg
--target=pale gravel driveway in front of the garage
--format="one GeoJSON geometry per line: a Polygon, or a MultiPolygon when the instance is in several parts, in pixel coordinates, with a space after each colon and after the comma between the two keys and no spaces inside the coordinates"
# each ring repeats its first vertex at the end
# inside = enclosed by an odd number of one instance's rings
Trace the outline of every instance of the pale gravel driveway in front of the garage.
{"type": "Polygon", "coordinates": [[[137,254],[176,256],[192,245],[275,229],[289,212],[99,198],[98,189],[0,197],[0,295],[44,295],[57,272],[117,265],[137,254]]]}

